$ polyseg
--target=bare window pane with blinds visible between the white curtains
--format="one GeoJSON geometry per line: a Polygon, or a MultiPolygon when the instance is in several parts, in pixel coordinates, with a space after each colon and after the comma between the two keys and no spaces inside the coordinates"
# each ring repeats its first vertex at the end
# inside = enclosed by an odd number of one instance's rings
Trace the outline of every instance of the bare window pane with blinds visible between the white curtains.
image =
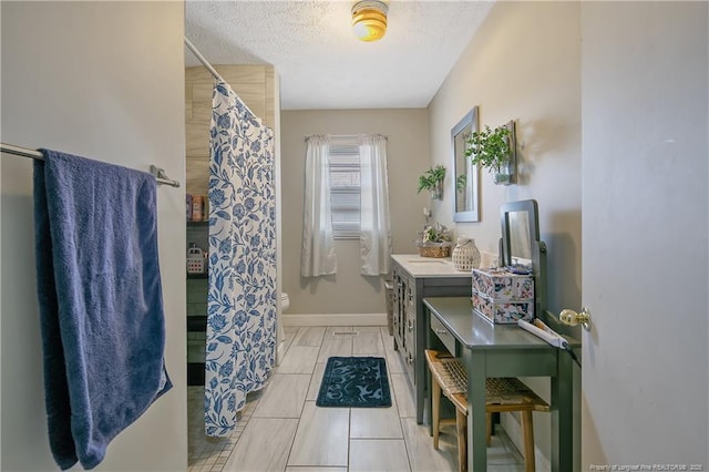
{"type": "Polygon", "coordinates": [[[359,239],[360,163],[354,136],[331,136],[330,213],[336,239],[359,239]]]}

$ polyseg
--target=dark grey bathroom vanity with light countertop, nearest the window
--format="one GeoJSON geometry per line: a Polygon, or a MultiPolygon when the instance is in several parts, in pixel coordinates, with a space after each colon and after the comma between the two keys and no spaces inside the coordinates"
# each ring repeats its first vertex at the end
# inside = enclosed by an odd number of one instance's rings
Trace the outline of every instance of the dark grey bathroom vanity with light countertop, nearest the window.
{"type": "Polygon", "coordinates": [[[423,350],[430,329],[424,297],[470,297],[471,273],[455,269],[450,258],[398,254],[393,260],[393,336],[394,349],[405,366],[415,391],[417,422],[423,422],[428,383],[423,350]]]}

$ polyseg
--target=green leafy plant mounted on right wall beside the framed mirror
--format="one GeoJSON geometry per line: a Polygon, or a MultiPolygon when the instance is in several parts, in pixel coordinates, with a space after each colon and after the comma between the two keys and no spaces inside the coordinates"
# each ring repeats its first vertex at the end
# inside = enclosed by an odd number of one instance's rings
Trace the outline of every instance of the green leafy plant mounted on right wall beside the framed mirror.
{"type": "Polygon", "coordinates": [[[515,167],[514,122],[473,132],[467,138],[465,155],[473,164],[493,173],[495,184],[510,185],[515,167]]]}

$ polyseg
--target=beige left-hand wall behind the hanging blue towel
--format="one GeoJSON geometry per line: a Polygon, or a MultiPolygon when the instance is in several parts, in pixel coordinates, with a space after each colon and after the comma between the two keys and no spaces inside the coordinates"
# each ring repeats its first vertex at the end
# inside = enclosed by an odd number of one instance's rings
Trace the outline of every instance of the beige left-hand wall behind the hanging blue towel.
{"type": "MultiPolygon", "coordinates": [[[[182,2],[1,2],[2,141],[184,182],[182,2]]],[[[3,471],[58,470],[49,450],[32,217],[32,161],[0,157],[3,471]]],[[[110,444],[102,471],[187,470],[185,191],[157,189],[174,388],[110,444]]],[[[80,469],[75,466],[74,469],[80,469]]]]}

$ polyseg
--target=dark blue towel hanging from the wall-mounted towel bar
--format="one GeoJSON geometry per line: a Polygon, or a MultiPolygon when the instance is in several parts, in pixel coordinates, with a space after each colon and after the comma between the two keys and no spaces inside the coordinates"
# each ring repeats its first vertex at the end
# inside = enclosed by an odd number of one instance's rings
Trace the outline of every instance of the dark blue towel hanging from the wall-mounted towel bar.
{"type": "Polygon", "coordinates": [[[49,441],[92,469],[172,388],[157,260],[156,182],[42,150],[34,164],[37,279],[49,441]]]}

